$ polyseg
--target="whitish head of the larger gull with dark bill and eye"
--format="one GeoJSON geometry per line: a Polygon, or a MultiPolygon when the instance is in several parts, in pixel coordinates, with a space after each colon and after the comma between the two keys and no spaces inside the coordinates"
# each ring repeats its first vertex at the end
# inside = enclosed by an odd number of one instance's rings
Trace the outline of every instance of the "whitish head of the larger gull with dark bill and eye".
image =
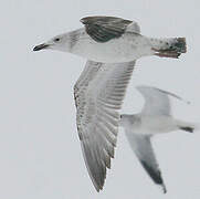
{"type": "Polygon", "coordinates": [[[64,51],[69,52],[71,49],[71,34],[64,33],[56,35],[49,40],[45,43],[42,43],[40,45],[34,46],[33,51],[40,51],[40,50],[57,50],[57,51],[64,51]]]}

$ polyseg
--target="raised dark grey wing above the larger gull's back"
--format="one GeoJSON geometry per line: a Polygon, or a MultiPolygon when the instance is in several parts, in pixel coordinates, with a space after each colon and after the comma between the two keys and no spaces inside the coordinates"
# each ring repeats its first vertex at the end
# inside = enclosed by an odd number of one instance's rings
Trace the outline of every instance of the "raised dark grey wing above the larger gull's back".
{"type": "Polygon", "coordinates": [[[96,42],[119,38],[127,28],[135,33],[140,31],[136,22],[115,17],[87,17],[81,19],[81,22],[85,25],[87,34],[96,42]]]}

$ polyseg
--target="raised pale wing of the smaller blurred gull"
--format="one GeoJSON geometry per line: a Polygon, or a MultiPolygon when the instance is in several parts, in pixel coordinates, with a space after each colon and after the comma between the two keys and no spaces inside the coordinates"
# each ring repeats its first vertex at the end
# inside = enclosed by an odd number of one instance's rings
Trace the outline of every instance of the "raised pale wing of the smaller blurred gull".
{"type": "Polygon", "coordinates": [[[157,87],[137,86],[136,88],[145,97],[145,106],[141,111],[141,114],[145,115],[170,115],[171,105],[169,96],[183,101],[180,96],[157,87]]]}

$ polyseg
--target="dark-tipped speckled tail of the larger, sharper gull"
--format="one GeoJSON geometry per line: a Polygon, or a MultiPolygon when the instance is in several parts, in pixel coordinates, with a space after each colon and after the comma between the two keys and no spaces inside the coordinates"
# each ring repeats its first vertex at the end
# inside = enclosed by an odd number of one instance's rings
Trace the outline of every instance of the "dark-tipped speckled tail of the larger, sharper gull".
{"type": "Polygon", "coordinates": [[[155,55],[160,57],[178,59],[181,53],[187,52],[186,38],[175,38],[165,40],[155,40],[152,50],[155,55]]]}

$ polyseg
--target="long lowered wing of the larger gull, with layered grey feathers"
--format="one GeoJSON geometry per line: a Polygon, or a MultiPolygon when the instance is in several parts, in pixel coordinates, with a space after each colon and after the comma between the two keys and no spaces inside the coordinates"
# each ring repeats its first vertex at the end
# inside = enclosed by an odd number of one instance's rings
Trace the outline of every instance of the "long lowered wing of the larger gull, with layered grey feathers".
{"type": "Polygon", "coordinates": [[[97,191],[116,146],[120,106],[135,62],[104,64],[87,61],[74,86],[76,124],[84,160],[97,191]]]}

